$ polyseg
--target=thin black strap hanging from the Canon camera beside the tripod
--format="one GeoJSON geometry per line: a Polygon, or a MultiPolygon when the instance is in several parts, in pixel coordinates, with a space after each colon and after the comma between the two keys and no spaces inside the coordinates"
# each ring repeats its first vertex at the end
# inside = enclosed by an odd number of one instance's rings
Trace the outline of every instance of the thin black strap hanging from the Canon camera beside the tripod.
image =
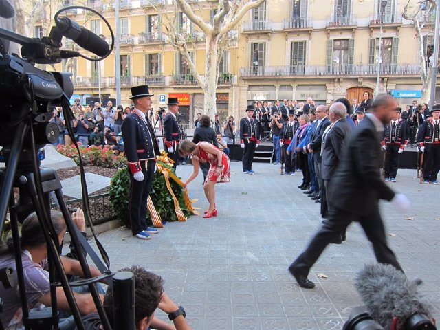
{"type": "MultiPolygon", "coordinates": [[[[107,266],[107,270],[109,271],[110,270],[109,255],[107,254],[107,251],[105,251],[104,247],[102,246],[102,244],[100,243],[100,241],[96,237],[94,224],[91,221],[91,213],[90,213],[90,206],[89,206],[89,193],[87,192],[87,182],[85,181],[83,159],[81,157],[81,153],[80,153],[80,149],[78,147],[78,144],[76,143],[76,139],[74,138],[74,130],[72,128],[72,123],[71,123],[72,120],[74,120],[74,113],[70,109],[69,98],[67,98],[67,96],[65,96],[63,98],[63,114],[64,114],[64,118],[65,118],[67,132],[69,132],[69,137],[72,139],[72,142],[74,143],[74,146],[75,146],[76,150],[78,151],[78,157],[79,157],[79,162],[80,162],[81,187],[83,189],[83,210],[84,210],[84,214],[85,214],[85,219],[87,220],[89,227],[90,227],[90,230],[91,230],[91,233],[94,236],[94,240],[95,240],[96,246],[98,247],[98,250],[102,256],[102,260],[104,261],[105,265],[107,266]]],[[[81,236],[81,235],[78,235],[78,236],[81,236]]],[[[96,264],[96,267],[98,267],[98,264],[96,264]]],[[[101,272],[102,272],[102,270],[101,270],[101,272]]]]}

